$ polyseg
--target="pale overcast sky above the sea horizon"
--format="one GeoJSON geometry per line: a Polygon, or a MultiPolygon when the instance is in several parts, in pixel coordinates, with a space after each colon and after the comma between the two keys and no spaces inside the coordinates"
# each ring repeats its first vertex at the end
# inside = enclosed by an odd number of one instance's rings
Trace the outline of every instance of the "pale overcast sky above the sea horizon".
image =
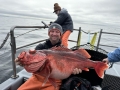
{"type": "Polygon", "coordinates": [[[74,22],[120,28],[120,0],[0,0],[0,14],[54,20],[54,3],[67,9],[74,22]]]}

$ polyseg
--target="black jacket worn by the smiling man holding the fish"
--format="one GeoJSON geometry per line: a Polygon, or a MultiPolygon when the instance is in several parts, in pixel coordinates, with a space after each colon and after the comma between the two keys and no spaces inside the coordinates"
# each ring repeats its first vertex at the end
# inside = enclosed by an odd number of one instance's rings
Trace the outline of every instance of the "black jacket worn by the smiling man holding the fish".
{"type": "Polygon", "coordinates": [[[46,42],[44,42],[44,43],[40,43],[40,44],[38,44],[36,47],[35,47],[35,50],[41,50],[41,49],[49,49],[49,48],[52,48],[52,47],[54,47],[54,46],[60,46],[61,45],[61,41],[59,41],[57,44],[55,44],[55,45],[52,45],[51,44],[51,42],[50,42],[50,40],[49,39],[47,39],[46,40],[46,42]]]}

